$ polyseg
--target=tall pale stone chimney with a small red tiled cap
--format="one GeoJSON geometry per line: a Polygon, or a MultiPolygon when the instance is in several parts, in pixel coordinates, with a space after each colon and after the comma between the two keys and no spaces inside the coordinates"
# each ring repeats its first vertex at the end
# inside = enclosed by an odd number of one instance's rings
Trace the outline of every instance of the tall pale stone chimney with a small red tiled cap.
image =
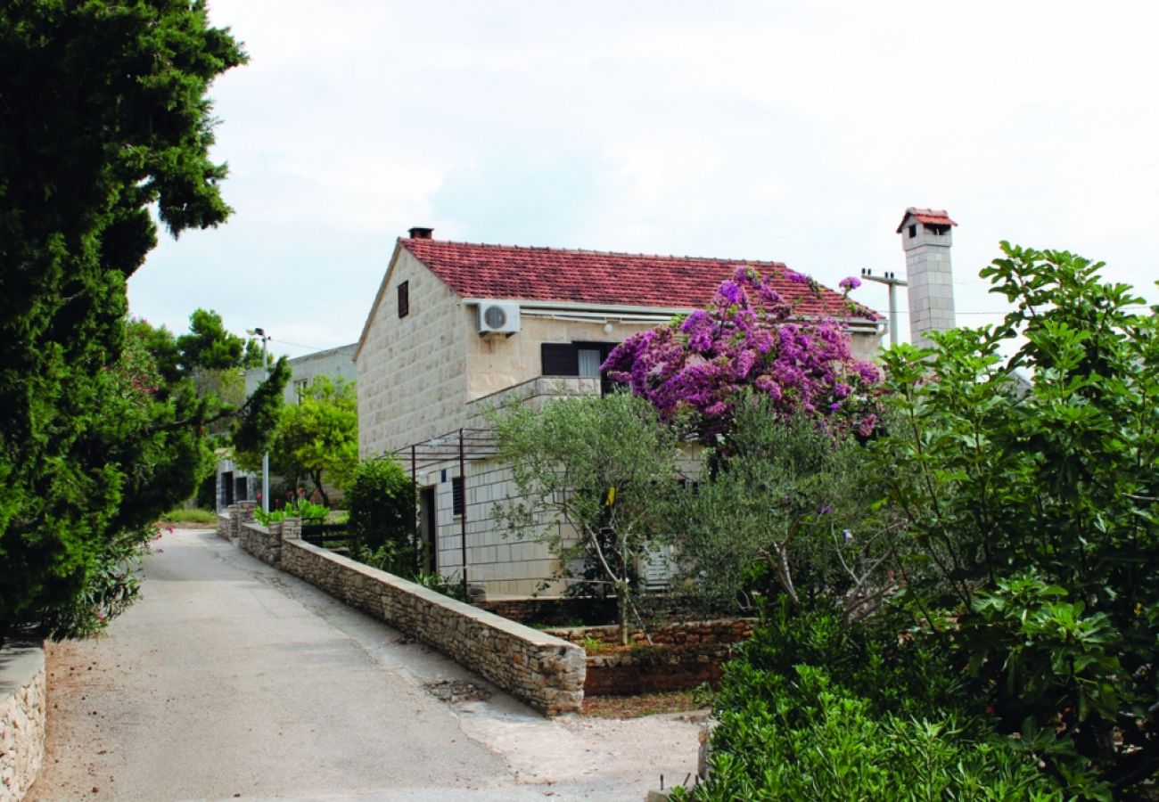
{"type": "Polygon", "coordinates": [[[930,331],[945,331],[954,322],[954,274],[950,270],[950,227],[945,209],[905,210],[897,233],[905,251],[910,285],[910,342],[930,348],[930,331]]]}

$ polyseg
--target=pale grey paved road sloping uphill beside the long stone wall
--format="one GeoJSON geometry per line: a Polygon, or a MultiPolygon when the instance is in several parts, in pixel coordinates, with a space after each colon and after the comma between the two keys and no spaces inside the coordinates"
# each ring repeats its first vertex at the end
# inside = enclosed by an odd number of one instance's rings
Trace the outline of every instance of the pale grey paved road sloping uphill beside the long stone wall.
{"type": "Polygon", "coordinates": [[[212,532],[145,575],[108,637],[50,651],[30,800],[639,800],[695,765],[687,721],[545,720],[212,532]]]}

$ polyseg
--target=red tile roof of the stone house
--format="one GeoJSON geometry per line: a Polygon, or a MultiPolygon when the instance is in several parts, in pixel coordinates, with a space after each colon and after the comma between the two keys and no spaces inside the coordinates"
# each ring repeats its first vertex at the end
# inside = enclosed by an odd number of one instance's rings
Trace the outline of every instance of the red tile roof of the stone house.
{"type": "MultiPolygon", "coordinates": [[[[738,267],[751,265],[806,315],[847,316],[845,299],[821,298],[788,280],[780,262],[649,256],[596,250],[523,248],[431,239],[400,239],[403,248],[464,298],[698,308],[738,267]]],[[[868,309],[866,311],[868,312],[868,309]]]]}

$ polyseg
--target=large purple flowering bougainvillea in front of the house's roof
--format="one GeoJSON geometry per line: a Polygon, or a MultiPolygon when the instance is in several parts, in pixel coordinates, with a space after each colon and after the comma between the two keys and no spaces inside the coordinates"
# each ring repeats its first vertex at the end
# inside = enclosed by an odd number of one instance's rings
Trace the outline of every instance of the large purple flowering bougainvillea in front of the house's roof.
{"type": "MultiPolygon", "coordinates": [[[[808,276],[790,280],[808,284],[808,276]]],[[[841,282],[846,293],[860,284],[841,282]]],[[[704,311],[640,331],[618,345],[604,370],[648,399],[665,420],[691,411],[704,436],[723,432],[743,391],[768,396],[778,414],[868,436],[876,424],[881,372],[850,353],[836,320],[794,316],[767,278],[741,268],[704,311]]]]}

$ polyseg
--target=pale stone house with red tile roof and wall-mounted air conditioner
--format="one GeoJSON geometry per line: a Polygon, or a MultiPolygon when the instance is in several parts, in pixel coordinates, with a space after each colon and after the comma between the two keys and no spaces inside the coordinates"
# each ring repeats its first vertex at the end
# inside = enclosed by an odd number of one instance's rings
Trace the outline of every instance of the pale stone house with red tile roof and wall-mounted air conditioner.
{"type": "MultiPolygon", "coordinates": [[[[745,264],[773,276],[803,315],[845,318],[839,293],[807,296],[778,262],[447,242],[430,228],[400,239],[355,351],[358,450],[394,454],[414,476],[427,570],[466,566],[490,596],[532,593],[552,577],[545,546],[491,522],[510,469],[491,459],[483,411],[602,392],[599,366],[617,343],[704,307],[745,264]]],[[[870,357],[880,326],[846,322],[857,355],[870,357]]]]}

